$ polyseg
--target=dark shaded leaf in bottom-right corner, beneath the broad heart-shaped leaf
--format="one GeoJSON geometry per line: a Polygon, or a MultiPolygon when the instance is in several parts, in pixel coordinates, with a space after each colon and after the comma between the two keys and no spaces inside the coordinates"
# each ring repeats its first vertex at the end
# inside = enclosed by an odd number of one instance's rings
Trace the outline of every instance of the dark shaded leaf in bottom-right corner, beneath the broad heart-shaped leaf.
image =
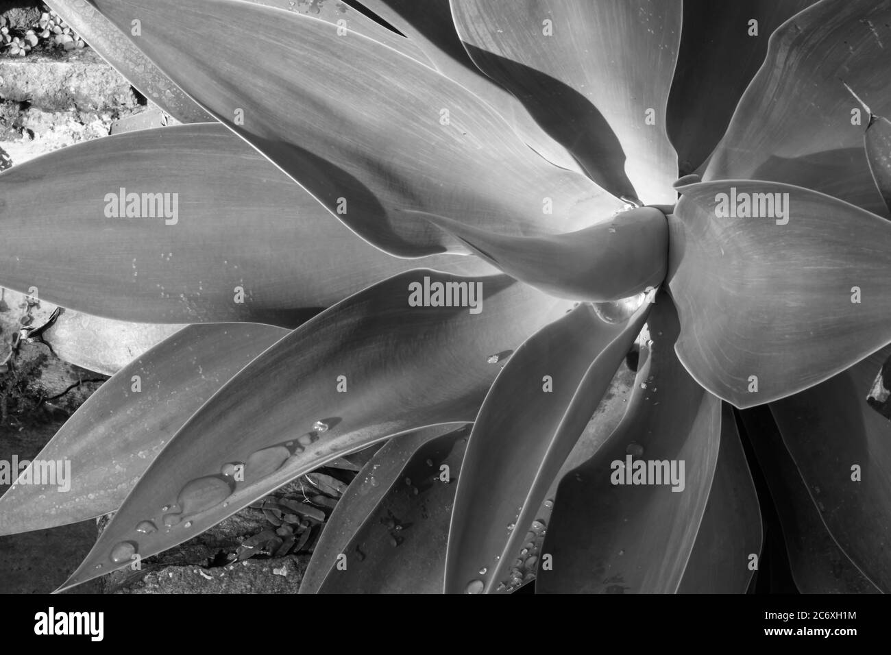
{"type": "Polygon", "coordinates": [[[889,355],[891,348],[884,348],[770,405],[823,523],[884,593],[891,590],[891,423],[871,409],[866,395],[889,355]]]}

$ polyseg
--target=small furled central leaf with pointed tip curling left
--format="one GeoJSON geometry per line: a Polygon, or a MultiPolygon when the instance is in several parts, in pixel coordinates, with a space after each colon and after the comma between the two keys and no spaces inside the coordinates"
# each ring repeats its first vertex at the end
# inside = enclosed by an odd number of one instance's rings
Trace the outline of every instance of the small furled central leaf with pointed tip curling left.
{"type": "Polygon", "coordinates": [[[504,273],[558,298],[607,301],[656,289],[665,279],[665,214],[641,207],[578,232],[503,236],[421,214],[504,273]]]}

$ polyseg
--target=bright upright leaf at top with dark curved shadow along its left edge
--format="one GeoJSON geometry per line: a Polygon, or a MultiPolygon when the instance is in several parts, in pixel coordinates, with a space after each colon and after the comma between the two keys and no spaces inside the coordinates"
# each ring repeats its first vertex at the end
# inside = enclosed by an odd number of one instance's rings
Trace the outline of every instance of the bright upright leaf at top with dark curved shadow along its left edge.
{"type": "Polygon", "coordinates": [[[609,192],[674,203],[666,104],[681,38],[675,0],[452,0],[480,70],[609,192]]]}

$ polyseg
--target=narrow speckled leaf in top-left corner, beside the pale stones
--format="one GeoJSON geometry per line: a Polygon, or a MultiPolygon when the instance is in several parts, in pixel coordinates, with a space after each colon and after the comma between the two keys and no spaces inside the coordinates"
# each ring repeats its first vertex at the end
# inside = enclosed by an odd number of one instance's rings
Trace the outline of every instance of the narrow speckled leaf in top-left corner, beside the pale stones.
{"type": "MultiPolygon", "coordinates": [[[[213,117],[184,94],[151,60],[130,43],[118,28],[86,0],[48,0],[46,3],[108,61],[139,93],[182,123],[204,123],[213,117]]],[[[127,24],[127,31],[130,25],[127,24]]]]}

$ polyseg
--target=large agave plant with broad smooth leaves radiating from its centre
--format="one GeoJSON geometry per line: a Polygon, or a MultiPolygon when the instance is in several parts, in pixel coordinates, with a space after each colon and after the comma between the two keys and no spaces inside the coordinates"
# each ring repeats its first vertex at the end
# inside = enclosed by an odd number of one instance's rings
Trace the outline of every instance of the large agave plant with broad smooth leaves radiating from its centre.
{"type": "Polygon", "coordinates": [[[184,125],[4,172],[0,283],[203,323],[0,501],[117,512],[62,588],[385,439],[301,591],[744,593],[750,463],[799,589],[891,587],[891,2],[51,4],[184,125]]]}

